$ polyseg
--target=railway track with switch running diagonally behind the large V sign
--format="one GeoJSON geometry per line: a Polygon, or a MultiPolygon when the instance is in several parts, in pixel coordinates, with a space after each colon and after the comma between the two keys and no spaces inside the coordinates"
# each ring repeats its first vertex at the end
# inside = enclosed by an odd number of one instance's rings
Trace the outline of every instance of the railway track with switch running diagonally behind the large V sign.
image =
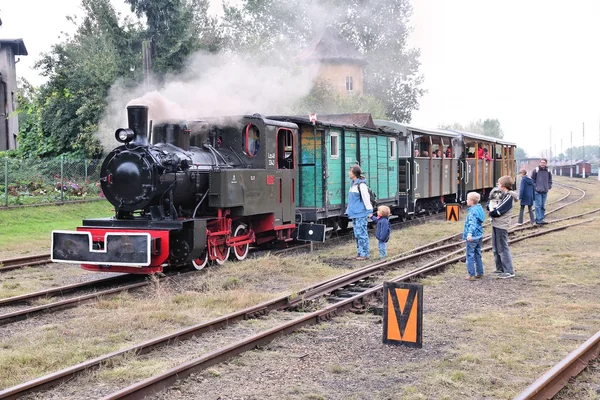
{"type": "MultiPolygon", "coordinates": [[[[600,211],[600,209],[592,210],[587,213],[580,214],[578,216],[571,216],[564,219],[556,220],[551,222],[551,224],[558,225],[559,222],[589,215],[598,211],[600,211]]],[[[590,222],[590,220],[577,222],[569,225],[558,226],[556,228],[548,227],[544,229],[534,229],[531,226],[520,226],[517,228],[513,228],[511,230],[512,233],[526,234],[519,237],[513,236],[513,238],[511,239],[511,243],[526,240],[530,237],[545,235],[562,229],[568,229],[569,227],[587,222],[590,222]]],[[[77,364],[70,368],[66,368],[61,371],[40,377],[33,381],[25,382],[21,385],[0,392],[0,398],[16,398],[32,391],[39,391],[43,390],[44,388],[53,387],[60,382],[72,379],[74,376],[77,376],[84,371],[98,368],[101,365],[110,363],[111,360],[123,356],[124,354],[146,354],[156,348],[166,346],[175,341],[183,341],[194,336],[202,335],[209,331],[233,326],[236,323],[239,323],[245,319],[260,317],[272,311],[296,310],[299,307],[303,308],[308,305],[312,305],[315,300],[322,299],[324,297],[327,298],[330,302],[333,302],[332,305],[329,305],[318,311],[306,314],[301,318],[286,322],[277,328],[273,328],[262,332],[258,335],[254,335],[238,343],[212,351],[202,357],[182,364],[177,368],[171,369],[165,372],[164,374],[145,380],[136,385],[132,385],[131,387],[128,387],[122,391],[113,393],[106,397],[140,398],[145,394],[153,393],[159,390],[160,388],[164,388],[169,384],[172,384],[176,379],[185,377],[195,370],[207,368],[208,366],[222,362],[232,357],[233,355],[240,354],[243,351],[267,343],[275,337],[279,337],[283,334],[293,332],[299,327],[330,319],[341,312],[345,312],[357,307],[364,307],[365,304],[367,304],[370,301],[369,299],[377,297],[377,293],[379,293],[379,291],[381,290],[381,284],[377,283],[376,280],[378,279],[378,276],[384,271],[400,268],[402,266],[407,265],[408,263],[414,263],[416,259],[421,258],[425,255],[439,253],[443,250],[451,251],[438,257],[436,260],[422,265],[419,268],[413,269],[410,272],[399,275],[394,279],[394,281],[410,280],[416,277],[424,276],[429,273],[433,273],[440,269],[443,269],[447,265],[451,265],[463,260],[464,254],[457,255],[458,253],[464,253],[462,242],[444,243],[455,239],[455,237],[456,235],[453,235],[444,239],[440,239],[436,242],[429,243],[427,245],[421,246],[418,249],[414,249],[410,252],[404,253],[394,259],[367,265],[356,271],[352,271],[340,277],[336,277],[325,282],[321,282],[312,287],[306,288],[302,291],[299,291],[298,293],[289,294],[287,296],[259,304],[255,307],[249,307],[247,309],[217,318],[213,321],[194,325],[192,327],[174,332],[172,334],[155,338],[144,343],[140,343],[138,345],[77,364]],[[456,250],[452,250],[453,247],[459,248],[456,250]]],[[[490,249],[491,247],[488,246],[484,248],[484,251],[488,251],[490,249]]]]}

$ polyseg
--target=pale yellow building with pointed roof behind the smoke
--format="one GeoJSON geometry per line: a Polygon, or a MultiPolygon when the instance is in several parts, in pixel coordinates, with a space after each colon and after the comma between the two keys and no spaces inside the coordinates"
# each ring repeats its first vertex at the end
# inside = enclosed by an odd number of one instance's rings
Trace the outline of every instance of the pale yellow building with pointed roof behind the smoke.
{"type": "Polygon", "coordinates": [[[319,79],[329,82],[338,93],[364,91],[366,58],[331,26],[301,51],[296,60],[319,64],[319,79]]]}

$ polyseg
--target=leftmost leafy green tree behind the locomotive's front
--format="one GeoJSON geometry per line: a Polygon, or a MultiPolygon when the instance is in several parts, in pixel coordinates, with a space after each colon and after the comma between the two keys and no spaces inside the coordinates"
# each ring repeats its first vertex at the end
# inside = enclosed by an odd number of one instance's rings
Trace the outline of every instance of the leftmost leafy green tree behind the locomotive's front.
{"type": "Polygon", "coordinates": [[[31,155],[99,154],[95,132],[110,86],[118,76],[139,75],[134,67],[141,64],[138,27],[129,21],[121,25],[110,0],[81,4],[84,17],[75,34],[36,63],[49,80],[39,91],[39,131],[21,132],[27,142],[28,134],[41,131],[37,148],[29,147],[31,155]]]}

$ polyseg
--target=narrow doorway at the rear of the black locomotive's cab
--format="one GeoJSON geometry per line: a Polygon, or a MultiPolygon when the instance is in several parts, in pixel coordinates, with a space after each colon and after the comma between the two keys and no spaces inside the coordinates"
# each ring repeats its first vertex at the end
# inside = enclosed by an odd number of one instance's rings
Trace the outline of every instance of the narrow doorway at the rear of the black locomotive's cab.
{"type": "Polygon", "coordinates": [[[277,199],[281,207],[282,224],[294,222],[296,196],[294,193],[294,132],[291,129],[277,130],[277,199]]]}

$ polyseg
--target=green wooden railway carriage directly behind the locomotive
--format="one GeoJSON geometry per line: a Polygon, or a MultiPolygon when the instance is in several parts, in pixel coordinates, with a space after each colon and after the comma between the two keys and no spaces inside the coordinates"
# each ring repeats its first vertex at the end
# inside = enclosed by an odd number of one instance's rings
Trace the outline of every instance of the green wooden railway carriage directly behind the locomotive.
{"type": "Polygon", "coordinates": [[[357,163],[378,204],[397,204],[397,137],[378,130],[370,114],[270,118],[298,125],[297,220],[345,227],[348,170],[357,163]]]}

